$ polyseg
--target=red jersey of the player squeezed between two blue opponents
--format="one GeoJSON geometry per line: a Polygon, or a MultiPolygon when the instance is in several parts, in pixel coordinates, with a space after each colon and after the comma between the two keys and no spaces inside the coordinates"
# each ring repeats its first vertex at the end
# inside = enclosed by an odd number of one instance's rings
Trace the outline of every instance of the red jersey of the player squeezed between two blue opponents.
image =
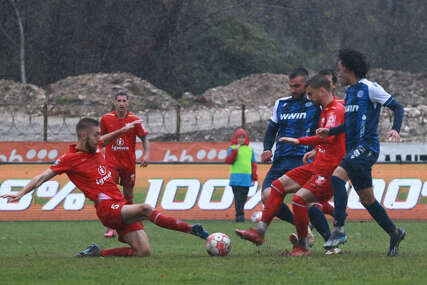
{"type": "MultiPolygon", "coordinates": [[[[332,128],[344,123],[345,107],[336,98],[323,108],[319,118],[319,128],[332,128]]],[[[299,138],[303,145],[316,145],[313,166],[335,168],[345,156],[345,134],[321,139],[318,136],[299,138]]]]}

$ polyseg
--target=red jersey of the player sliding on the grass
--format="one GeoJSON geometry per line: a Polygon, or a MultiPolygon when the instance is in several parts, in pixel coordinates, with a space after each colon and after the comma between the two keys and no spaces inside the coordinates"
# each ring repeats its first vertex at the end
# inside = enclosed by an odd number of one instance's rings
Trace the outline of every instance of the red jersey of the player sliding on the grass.
{"type": "Polygon", "coordinates": [[[101,199],[124,200],[122,193],[111,178],[111,170],[98,146],[94,154],[76,149],[70,145],[70,151],[61,156],[50,169],[56,174],[66,173],[71,182],[87,198],[98,204],[101,199]],[[108,196],[108,197],[107,197],[108,196]]]}

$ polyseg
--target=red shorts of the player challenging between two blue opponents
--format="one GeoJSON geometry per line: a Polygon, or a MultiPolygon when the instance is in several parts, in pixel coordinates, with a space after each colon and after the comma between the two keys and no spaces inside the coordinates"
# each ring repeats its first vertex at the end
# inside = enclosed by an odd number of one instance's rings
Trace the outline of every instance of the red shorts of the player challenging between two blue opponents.
{"type": "Polygon", "coordinates": [[[331,175],[335,167],[320,169],[306,164],[286,172],[286,176],[297,182],[302,188],[313,192],[319,202],[324,202],[329,201],[334,195],[331,175]]]}

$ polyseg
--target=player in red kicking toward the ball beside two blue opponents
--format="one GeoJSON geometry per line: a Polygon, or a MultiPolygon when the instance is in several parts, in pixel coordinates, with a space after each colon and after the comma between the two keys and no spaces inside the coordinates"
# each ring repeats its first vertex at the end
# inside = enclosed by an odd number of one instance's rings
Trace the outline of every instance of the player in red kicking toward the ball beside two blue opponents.
{"type": "MultiPolygon", "coordinates": [[[[318,74],[306,83],[306,93],[315,105],[322,105],[319,126],[331,128],[344,122],[344,106],[336,102],[329,80],[318,74]]],[[[307,244],[308,208],[311,203],[326,202],[332,198],[330,176],[345,155],[344,135],[321,139],[318,136],[290,138],[282,137],[280,141],[293,144],[316,145],[316,156],[312,163],[300,166],[271,184],[272,191],[268,197],[262,219],[257,228],[248,231],[236,230],[236,234],[256,245],[264,242],[264,235],[276,212],[279,210],[285,195],[295,193],[292,197],[295,227],[298,242],[290,252],[292,256],[307,256],[311,252],[307,244]]]]}

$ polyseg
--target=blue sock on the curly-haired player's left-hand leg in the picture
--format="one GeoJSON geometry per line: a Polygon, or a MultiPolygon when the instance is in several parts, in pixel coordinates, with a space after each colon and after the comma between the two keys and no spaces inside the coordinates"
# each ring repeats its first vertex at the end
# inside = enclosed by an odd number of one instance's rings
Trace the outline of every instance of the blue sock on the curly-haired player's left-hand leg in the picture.
{"type": "Polygon", "coordinates": [[[337,176],[331,177],[331,185],[334,189],[334,226],[343,227],[347,209],[347,191],[345,181],[337,176]]]}

